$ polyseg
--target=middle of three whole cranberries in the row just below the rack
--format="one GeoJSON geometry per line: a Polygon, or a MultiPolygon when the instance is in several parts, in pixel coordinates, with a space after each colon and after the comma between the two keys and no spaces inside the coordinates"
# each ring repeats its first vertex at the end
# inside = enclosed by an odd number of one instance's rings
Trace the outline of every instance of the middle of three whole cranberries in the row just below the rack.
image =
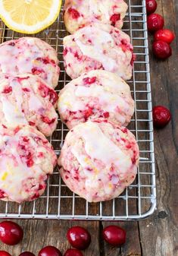
{"type": "Polygon", "coordinates": [[[89,232],[81,226],[73,226],[67,231],[67,239],[74,248],[85,250],[89,247],[91,236],[89,232]]]}

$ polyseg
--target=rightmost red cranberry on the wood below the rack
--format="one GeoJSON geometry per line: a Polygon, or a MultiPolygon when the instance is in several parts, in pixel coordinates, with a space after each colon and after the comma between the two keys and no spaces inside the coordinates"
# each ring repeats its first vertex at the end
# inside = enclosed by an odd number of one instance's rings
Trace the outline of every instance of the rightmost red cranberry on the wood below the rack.
{"type": "Polygon", "coordinates": [[[110,245],[123,245],[126,242],[126,231],[119,226],[107,226],[102,232],[105,242],[110,245]]]}

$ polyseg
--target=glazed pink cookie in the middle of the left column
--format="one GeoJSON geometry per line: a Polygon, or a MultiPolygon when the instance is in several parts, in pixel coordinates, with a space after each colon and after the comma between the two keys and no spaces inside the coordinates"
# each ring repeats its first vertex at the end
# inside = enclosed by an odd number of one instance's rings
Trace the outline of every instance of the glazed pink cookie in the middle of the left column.
{"type": "Polygon", "coordinates": [[[55,106],[58,94],[33,74],[4,74],[0,77],[0,124],[33,125],[45,136],[58,123],[55,106]]]}

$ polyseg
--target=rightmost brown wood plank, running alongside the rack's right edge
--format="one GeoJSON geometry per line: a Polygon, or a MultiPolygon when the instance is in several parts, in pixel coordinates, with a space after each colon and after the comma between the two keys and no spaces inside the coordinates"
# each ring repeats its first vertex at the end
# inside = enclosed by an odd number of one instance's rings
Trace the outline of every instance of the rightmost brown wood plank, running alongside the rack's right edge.
{"type": "MultiPolygon", "coordinates": [[[[158,1],[158,13],[164,15],[165,27],[177,33],[177,1],[158,1]]],[[[151,52],[150,36],[149,46],[151,52]]],[[[173,56],[160,62],[151,55],[151,82],[154,105],[167,106],[172,112],[172,122],[163,130],[155,130],[155,159],[157,171],[157,211],[151,218],[139,223],[142,256],[176,256],[178,255],[178,69],[177,43],[171,44],[173,56]]]]}

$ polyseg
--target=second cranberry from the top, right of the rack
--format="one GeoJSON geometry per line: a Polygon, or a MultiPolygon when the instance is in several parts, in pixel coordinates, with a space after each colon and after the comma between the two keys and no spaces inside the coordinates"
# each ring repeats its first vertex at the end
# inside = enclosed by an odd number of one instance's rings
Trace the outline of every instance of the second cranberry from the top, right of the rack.
{"type": "Polygon", "coordinates": [[[164,18],[160,14],[148,15],[148,31],[155,32],[161,30],[164,27],[164,18]]]}

